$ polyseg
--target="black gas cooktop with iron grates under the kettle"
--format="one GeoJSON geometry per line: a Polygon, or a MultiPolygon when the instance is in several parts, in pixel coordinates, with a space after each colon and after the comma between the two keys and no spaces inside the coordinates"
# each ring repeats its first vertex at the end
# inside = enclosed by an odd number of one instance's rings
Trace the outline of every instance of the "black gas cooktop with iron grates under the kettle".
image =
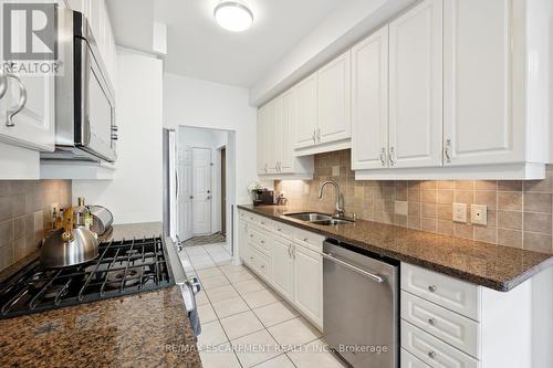
{"type": "Polygon", "coordinates": [[[175,284],[160,236],[101,243],[98,254],[63,269],[29,263],[0,284],[0,319],[175,284]]]}

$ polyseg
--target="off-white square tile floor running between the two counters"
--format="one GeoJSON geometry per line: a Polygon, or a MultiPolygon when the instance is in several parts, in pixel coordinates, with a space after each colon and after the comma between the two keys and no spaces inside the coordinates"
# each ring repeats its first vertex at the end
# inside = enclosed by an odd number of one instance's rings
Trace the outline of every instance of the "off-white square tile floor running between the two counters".
{"type": "Polygon", "coordinates": [[[197,275],[201,320],[198,338],[205,368],[342,368],[303,319],[244,266],[231,264],[225,244],[185,248],[188,275],[197,275]]]}

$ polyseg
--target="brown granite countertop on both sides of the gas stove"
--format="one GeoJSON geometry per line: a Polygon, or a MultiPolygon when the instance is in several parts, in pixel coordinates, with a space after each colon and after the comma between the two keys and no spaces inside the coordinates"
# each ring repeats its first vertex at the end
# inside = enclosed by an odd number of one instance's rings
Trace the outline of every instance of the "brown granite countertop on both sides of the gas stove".
{"type": "MultiPolygon", "coordinates": [[[[115,225],[108,238],[160,233],[115,225]]],[[[0,330],[0,367],[201,367],[177,285],[1,319],[0,330]]]]}

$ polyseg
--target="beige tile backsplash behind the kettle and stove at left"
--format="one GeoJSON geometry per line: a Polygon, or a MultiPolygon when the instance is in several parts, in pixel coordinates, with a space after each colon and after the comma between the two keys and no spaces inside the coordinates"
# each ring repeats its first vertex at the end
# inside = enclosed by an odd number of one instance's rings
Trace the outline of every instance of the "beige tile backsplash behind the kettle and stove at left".
{"type": "Polygon", "coordinates": [[[0,270],[36,250],[52,229],[52,203],[71,204],[71,180],[0,180],[0,270]]]}

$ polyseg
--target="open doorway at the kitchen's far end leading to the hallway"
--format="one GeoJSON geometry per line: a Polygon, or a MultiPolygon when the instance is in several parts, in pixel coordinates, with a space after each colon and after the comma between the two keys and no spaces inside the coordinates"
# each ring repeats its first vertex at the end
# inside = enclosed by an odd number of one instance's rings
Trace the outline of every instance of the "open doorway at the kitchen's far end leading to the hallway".
{"type": "Polygon", "coordinates": [[[232,254],[234,133],[180,126],[177,136],[178,238],[185,246],[217,244],[232,254]]]}

